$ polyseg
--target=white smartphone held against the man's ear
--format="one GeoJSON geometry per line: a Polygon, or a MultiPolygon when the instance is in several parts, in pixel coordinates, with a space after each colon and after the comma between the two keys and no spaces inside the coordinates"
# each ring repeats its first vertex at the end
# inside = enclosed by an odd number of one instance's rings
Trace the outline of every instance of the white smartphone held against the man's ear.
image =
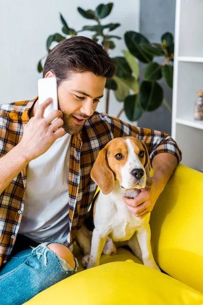
{"type": "Polygon", "coordinates": [[[58,110],[57,83],[55,77],[40,78],[38,80],[39,105],[48,98],[52,98],[53,102],[45,109],[44,117],[47,117],[53,110],[58,110]]]}

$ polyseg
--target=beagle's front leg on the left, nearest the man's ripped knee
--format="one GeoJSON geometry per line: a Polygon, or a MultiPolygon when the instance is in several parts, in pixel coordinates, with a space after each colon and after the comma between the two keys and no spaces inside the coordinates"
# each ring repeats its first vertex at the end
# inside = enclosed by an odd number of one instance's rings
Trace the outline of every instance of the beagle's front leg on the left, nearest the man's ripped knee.
{"type": "Polygon", "coordinates": [[[89,263],[87,265],[87,269],[99,265],[101,252],[104,249],[105,243],[107,241],[107,237],[108,237],[108,235],[104,236],[104,233],[101,234],[96,229],[93,230],[92,243],[91,243],[91,254],[90,254],[89,263]]]}

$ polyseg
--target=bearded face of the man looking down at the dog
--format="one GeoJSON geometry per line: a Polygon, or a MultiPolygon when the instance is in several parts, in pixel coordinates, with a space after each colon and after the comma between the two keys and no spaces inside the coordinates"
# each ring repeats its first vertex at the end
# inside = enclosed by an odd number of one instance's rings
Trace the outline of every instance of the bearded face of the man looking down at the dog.
{"type": "Polygon", "coordinates": [[[94,113],[104,94],[106,78],[91,72],[73,73],[58,87],[58,109],[63,113],[63,129],[78,134],[94,113]]]}

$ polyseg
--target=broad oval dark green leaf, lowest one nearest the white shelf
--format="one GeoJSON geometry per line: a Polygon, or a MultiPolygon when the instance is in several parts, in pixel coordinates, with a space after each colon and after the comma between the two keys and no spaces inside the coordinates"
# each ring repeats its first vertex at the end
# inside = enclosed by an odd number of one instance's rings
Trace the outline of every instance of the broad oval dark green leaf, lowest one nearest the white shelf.
{"type": "Polygon", "coordinates": [[[140,86],[139,98],[145,111],[153,111],[162,103],[163,89],[157,82],[143,81],[140,86]]]}

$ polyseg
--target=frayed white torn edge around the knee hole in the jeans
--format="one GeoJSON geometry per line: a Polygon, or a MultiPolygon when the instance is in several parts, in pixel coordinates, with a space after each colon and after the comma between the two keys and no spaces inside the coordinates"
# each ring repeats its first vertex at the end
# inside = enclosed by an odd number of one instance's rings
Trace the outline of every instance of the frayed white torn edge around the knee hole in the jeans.
{"type": "MultiPolygon", "coordinates": [[[[38,255],[38,259],[40,259],[40,257],[41,257],[42,255],[44,255],[45,266],[47,266],[47,256],[46,256],[47,252],[48,252],[48,251],[53,252],[51,249],[47,248],[48,245],[49,245],[49,242],[41,243],[41,244],[40,244],[39,246],[37,246],[36,248],[30,246],[30,247],[33,249],[31,253],[33,253],[33,251],[36,250],[36,254],[38,255]],[[42,251],[39,252],[41,249],[42,249],[42,251]]],[[[57,253],[55,253],[55,252],[53,252],[53,253],[57,256],[57,258],[58,258],[58,260],[59,260],[59,262],[60,262],[60,264],[61,264],[61,267],[62,267],[62,269],[63,269],[64,271],[77,271],[77,269],[78,269],[78,267],[79,267],[79,263],[78,263],[78,260],[77,260],[75,257],[74,257],[74,261],[75,261],[76,266],[75,266],[75,269],[74,269],[74,268],[73,268],[71,265],[69,265],[63,258],[61,258],[57,253]]]]}

